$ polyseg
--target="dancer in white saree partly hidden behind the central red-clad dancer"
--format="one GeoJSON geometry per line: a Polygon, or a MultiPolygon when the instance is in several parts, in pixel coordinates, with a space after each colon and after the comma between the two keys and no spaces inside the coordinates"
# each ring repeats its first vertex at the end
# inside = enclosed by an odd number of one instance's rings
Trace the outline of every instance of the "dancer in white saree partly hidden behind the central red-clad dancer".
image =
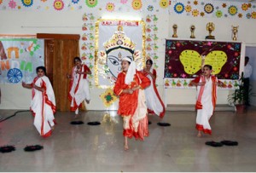
{"type": "Polygon", "coordinates": [[[153,68],[152,60],[148,59],[146,61],[146,68],[143,69],[143,74],[151,81],[149,87],[145,89],[148,113],[154,113],[163,118],[166,108],[155,86],[156,71],[153,68]]]}

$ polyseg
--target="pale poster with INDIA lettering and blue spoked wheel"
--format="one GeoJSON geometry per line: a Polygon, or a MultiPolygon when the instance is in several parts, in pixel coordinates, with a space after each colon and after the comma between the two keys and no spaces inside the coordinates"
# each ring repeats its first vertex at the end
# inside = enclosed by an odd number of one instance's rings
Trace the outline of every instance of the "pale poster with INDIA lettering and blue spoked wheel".
{"type": "Polygon", "coordinates": [[[0,38],[0,84],[30,84],[38,66],[44,66],[44,40],[0,38]]]}

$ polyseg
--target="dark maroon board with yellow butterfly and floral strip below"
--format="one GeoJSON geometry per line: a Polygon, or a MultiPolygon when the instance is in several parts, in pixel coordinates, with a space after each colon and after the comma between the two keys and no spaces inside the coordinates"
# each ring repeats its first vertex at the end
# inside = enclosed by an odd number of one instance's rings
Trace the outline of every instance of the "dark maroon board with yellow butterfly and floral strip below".
{"type": "Polygon", "coordinates": [[[165,88],[192,88],[190,81],[201,75],[201,66],[207,64],[224,82],[224,89],[236,88],[241,43],[167,39],[165,56],[165,88]]]}

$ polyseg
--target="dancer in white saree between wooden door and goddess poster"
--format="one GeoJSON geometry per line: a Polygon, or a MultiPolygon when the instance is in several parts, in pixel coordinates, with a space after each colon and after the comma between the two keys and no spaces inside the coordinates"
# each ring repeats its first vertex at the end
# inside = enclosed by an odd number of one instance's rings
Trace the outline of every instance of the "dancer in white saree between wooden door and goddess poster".
{"type": "Polygon", "coordinates": [[[82,101],[90,103],[89,82],[87,81],[87,74],[91,74],[90,68],[84,64],[79,57],[74,58],[72,75],[67,75],[71,78],[68,99],[71,101],[70,110],[74,111],[76,116],[79,115],[79,107],[82,107],[82,101]]]}

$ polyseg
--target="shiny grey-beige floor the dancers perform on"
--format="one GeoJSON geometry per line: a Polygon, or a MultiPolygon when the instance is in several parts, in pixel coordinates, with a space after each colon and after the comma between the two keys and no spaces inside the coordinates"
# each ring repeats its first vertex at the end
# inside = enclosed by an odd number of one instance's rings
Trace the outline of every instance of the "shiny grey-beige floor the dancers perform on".
{"type": "MultiPolygon", "coordinates": [[[[15,110],[0,110],[7,118],[15,110]]],[[[84,124],[72,125],[72,112],[57,112],[52,136],[44,139],[32,125],[30,112],[19,112],[0,123],[0,146],[15,145],[12,153],[0,153],[0,171],[256,171],[256,108],[244,114],[215,112],[212,136],[196,137],[195,112],[166,112],[149,115],[150,136],[130,140],[123,150],[122,119],[116,112],[83,112],[84,124]],[[102,124],[90,126],[90,121],[102,124]],[[209,147],[206,141],[238,141],[236,147],[209,147]],[[27,153],[26,145],[43,150],[27,153]]]]}

